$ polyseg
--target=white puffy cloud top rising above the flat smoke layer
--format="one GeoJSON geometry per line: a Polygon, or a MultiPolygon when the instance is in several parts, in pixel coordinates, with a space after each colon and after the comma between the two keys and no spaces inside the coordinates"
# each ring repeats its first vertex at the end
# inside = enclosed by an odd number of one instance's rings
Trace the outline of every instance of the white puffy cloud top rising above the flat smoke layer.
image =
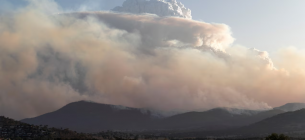
{"type": "Polygon", "coordinates": [[[177,16],[192,19],[192,11],[176,0],[126,0],[123,6],[113,9],[116,12],[133,14],[156,14],[160,17],[177,16]]]}

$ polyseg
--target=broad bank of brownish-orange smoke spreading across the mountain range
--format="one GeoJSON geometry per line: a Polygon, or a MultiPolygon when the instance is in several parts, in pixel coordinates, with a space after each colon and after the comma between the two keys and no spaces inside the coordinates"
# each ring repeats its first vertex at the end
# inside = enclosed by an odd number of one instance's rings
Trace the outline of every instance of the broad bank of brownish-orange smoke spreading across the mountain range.
{"type": "Polygon", "coordinates": [[[268,109],[304,100],[304,51],[282,49],[273,64],[267,52],[230,47],[224,24],[49,15],[52,9],[41,12],[43,4],[33,2],[1,16],[0,115],[33,117],[78,100],[161,111],[268,109]]]}

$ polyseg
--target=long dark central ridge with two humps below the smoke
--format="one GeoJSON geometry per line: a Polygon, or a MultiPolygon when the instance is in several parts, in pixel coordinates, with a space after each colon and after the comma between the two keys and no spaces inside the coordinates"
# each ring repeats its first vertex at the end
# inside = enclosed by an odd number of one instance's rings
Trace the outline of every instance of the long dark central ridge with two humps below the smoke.
{"type": "Polygon", "coordinates": [[[80,101],[22,122],[70,128],[78,132],[104,130],[222,130],[249,125],[283,113],[281,110],[251,111],[216,108],[171,117],[156,117],[150,111],[123,106],[80,101]]]}

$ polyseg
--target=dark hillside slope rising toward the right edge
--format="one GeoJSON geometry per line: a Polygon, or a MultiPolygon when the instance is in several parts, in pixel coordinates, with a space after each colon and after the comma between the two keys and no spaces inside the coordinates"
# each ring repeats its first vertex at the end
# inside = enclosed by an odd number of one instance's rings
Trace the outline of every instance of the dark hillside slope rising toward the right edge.
{"type": "MultiPolygon", "coordinates": [[[[280,112],[280,111],[273,109],[259,114],[266,117],[271,114],[276,114],[275,112],[280,112]]],[[[256,118],[255,115],[253,117],[256,118]]],[[[304,130],[305,130],[305,109],[301,109],[297,111],[280,113],[272,117],[267,117],[266,119],[263,119],[256,123],[249,124],[239,128],[231,128],[231,129],[218,130],[218,131],[212,131],[211,129],[205,129],[205,130],[198,129],[195,131],[176,131],[173,132],[171,136],[174,137],[235,136],[235,137],[246,138],[246,137],[265,137],[271,133],[286,133],[286,132],[304,133],[304,130]]]]}

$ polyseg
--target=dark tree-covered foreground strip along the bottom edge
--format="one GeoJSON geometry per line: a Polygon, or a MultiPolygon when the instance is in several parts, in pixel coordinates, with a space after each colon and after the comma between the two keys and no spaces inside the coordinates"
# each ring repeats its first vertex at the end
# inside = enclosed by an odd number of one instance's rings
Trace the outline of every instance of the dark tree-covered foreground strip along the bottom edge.
{"type": "MultiPolygon", "coordinates": [[[[292,133],[289,133],[292,134],[292,133]]],[[[77,133],[69,129],[49,128],[47,125],[29,125],[0,116],[0,140],[305,140],[284,134],[271,134],[253,138],[236,136],[222,137],[179,137],[167,133],[141,133],[104,131],[94,134],[77,133]]]]}

